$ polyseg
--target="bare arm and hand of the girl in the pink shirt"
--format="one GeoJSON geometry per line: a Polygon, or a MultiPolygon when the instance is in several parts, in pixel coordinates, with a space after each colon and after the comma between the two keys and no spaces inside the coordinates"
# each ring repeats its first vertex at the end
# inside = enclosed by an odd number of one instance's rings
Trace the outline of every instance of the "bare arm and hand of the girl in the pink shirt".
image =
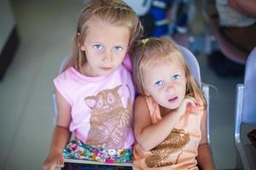
{"type": "Polygon", "coordinates": [[[49,149],[49,155],[44,161],[44,170],[54,170],[55,167],[63,167],[64,158],[62,156],[62,150],[71,136],[71,133],[68,130],[71,121],[70,105],[57,90],[55,95],[58,108],[57,121],[49,149]]]}

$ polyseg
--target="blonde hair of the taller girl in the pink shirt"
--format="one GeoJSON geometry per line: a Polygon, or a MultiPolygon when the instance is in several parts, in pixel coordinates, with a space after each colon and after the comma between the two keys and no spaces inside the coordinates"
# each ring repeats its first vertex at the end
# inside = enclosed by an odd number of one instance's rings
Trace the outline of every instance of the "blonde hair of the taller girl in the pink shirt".
{"type": "Polygon", "coordinates": [[[115,26],[128,26],[130,29],[128,53],[133,47],[133,42],[143,34],[143,26],[137,14],[122,0],[90,0],[84,5],[79,15],[77,31],[73,39],[72,56],[64,70],[73,66],[82,72],[82,66],[87,60],[84,51],[80,49],[80,44],[86,38],[90,20],[100,20],[115,26]]]}

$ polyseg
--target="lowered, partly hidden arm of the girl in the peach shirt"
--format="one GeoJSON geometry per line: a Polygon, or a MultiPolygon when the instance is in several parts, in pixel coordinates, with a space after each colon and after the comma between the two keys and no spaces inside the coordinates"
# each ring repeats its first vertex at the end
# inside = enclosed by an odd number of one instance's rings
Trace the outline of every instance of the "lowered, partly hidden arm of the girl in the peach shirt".
{"type": "Polygon", "coordinates": [[[212,161],[212,152],[209,148],[207,141],[207,111],[201,120],[201,142],[198,147],[198,156],[196,157],[199,166],[204,170],[215,169],[214,163],[212,161]]]}

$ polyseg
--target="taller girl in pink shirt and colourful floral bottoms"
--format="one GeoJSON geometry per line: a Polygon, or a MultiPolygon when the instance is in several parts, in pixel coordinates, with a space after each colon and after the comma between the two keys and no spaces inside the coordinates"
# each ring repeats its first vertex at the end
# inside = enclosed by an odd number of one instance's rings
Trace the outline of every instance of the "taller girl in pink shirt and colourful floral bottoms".
{"type": "Polygon", "coordinates": [[[135,90],[122,63],[125,59],[131,69],[126,54],[141,33],[136,13],[123,1],[85,4],[72,58],[54,80],[58,114],[44,169],[63,167],[64,157],[131,162],[135,90]],[[71,132],[75,140],[67,144],[71,132]]]}

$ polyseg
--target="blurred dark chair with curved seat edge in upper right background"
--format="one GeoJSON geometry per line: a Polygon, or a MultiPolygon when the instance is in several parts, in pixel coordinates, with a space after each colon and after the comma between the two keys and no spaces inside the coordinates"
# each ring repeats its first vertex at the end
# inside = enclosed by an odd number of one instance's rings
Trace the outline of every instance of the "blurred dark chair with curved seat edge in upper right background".
{"type": "Polygon", "coordinates": [[[228,40],[220,31],[218,26],[217,9],[215,8],[214,0],[202,0],[201,11],[205,22],[205,53],[212,53],[212,42],[215,39],[218,42],[218,48],[229,59],[245,64],[247,53],[237,48],[228,40]]]}

